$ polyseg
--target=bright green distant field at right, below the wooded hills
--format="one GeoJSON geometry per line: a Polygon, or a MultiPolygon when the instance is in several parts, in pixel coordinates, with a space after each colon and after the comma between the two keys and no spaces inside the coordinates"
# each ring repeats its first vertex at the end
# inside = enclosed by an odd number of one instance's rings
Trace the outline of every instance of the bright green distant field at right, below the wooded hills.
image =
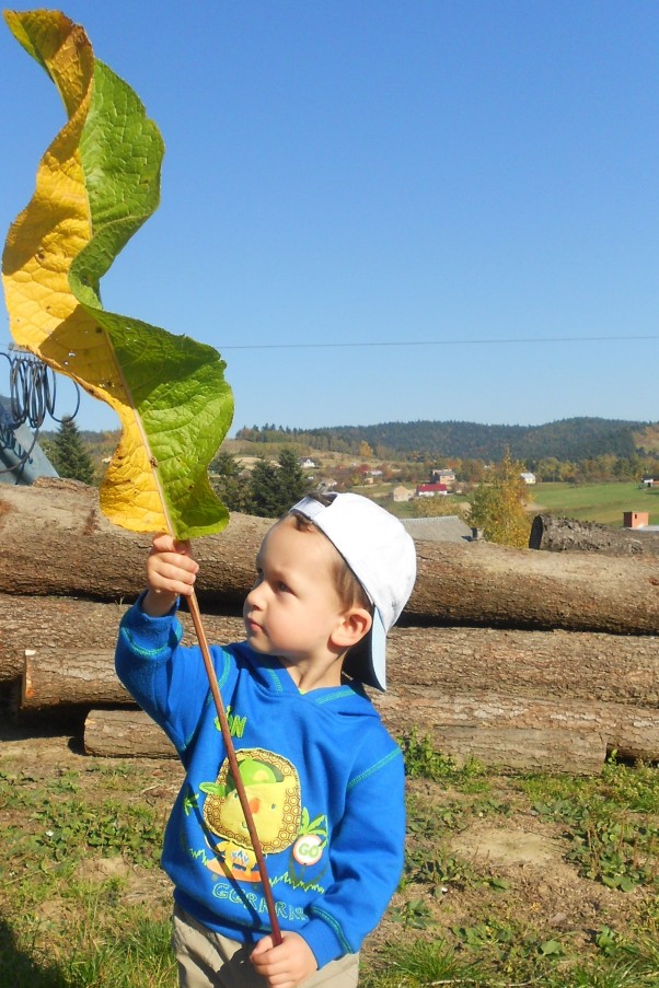
{"type": "Polygon", "coordinates": [[[529,510],[548,512],[585,522],[622,526],[623,512],[647,511],[649,523],[659,524],[659,489],[638,484],[537,484],[529,489],[529,510]]]}

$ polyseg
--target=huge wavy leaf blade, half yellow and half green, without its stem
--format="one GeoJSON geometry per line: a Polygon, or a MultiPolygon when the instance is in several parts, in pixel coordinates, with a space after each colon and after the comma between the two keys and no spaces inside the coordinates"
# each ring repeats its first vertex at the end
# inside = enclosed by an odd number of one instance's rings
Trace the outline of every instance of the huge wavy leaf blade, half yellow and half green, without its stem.
{"type": "MultiPolygon", "coordinates": [[[[228,513],[207,467],[233,414],[224,362],[187,336],[105,312],[99,295],[101,278],[158,207],[160,132],[130,86],[94,58],[80,25],[51,10],[4,16],[68,115],[7,239],[12,336],[118,414],[122,439],[101,488],[111,521],[178,538],[218,532],[228,513]]],[[[5,153],[20,151],[7,136],[5,153]]]]}

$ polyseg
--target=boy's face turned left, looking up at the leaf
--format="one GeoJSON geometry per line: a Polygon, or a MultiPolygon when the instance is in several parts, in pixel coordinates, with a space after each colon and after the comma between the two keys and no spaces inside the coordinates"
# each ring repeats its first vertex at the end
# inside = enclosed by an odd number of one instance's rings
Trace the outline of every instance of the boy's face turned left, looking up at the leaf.
{"type": "Polygon", "coordinates": [[[336,590],[336,549],[293,518],[274,525],[256,556],[257,579],[243,607],[247,641],[292,663],[325,658],[345,607],[336,590]]]}

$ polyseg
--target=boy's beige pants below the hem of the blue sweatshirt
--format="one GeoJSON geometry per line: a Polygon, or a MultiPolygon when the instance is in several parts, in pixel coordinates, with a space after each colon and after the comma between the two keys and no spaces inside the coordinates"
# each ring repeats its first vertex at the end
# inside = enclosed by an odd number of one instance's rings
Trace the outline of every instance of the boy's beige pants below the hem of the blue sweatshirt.
{"type": "MultiPolygon", "coordinates": [[[[178,963],[180,988],[266,988],[250,963],[252,945],[229,940],[174,906],[172,945],[178,963]]],[[[355,988],[359,954],[331,961],[304,981],[303,988],[355,988]]],[[[302,986],[300,986],[302,988],[302,986]]]]}

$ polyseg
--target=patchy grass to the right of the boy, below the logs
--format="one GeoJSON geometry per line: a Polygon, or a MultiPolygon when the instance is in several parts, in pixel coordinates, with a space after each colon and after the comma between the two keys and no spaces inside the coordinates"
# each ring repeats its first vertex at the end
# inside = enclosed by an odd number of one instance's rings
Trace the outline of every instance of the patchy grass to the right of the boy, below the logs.
{"type": "Polygon", "coordinates": [[[659,985],[655,767],[612,759],[592,777],[529,774],[504,780],[475,762],[458,765],[415,731],[403,747],[408,776],[438,789],[426,784],[408,801],[405,874],[390,910],[407,937],[390,938],[369,958],[366,988],[659,985]],[[474,824],[500,827],[512,820],[516,832],[523,832],[524,817],[547,825],[565,847],[563,863],[577,875],[571,905],[565,885],[559,922],[537,909],[532,887],[523,894],[515,871],[501,876],[486,860],[447,850],[452,835],[474,824]],[[589,883],[612,893],[599,900],[598,908],[606,903],[610,911],[594,925],[574,915],[582,884],[586,898],[592,895],[589,883]],[[458,922],[442,915],[452,900],[458,922]]]}

